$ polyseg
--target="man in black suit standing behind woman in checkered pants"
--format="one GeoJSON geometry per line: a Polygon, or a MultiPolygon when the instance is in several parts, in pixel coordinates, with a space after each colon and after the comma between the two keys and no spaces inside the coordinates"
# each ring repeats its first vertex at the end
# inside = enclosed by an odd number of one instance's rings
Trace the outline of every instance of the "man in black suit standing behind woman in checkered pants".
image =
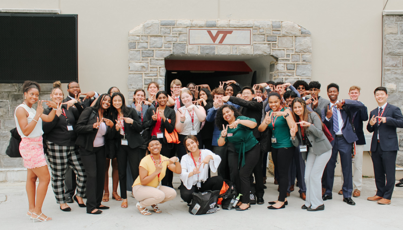
{"type": "MultiPolygon", "coordinates": [[[[95,91],[90,91],[86,94],[82,94],[80,90],[80,85],[77,82],[70,82],[69,85],[67,85],[67,92],[69,92],[69,95],[63,100],[63,102],[68,102],[77,98],[79,99],[79,105],[81,104],[81,106],[83,106],[83,109],[91,106],[94,100],[98,98],[98,94],[95,91]],[[80,95],[85,95],[86,97],[80,98],[80,95]]],[[[66,188],[66,191],[64,192],[66,196],[66,203],[73,203],[73,196],[76,192],[77,185],[76,174],[70,167],[67,169],[65,174],[64,186],[66,188]]]]}

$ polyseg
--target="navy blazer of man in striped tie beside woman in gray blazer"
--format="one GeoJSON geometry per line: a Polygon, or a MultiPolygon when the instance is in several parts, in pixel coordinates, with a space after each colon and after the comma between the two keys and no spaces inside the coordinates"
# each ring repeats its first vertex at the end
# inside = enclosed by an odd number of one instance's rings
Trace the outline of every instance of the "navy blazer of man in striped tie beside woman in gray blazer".
{"type": "MultiPolygon", "coordinates": [[[[362,102],[359,101],[354,101],[354,100],[345,100],[346,104],[342,106],[342,109],[340,110],[340,114],[342,115],[343,119],[343,128],[342,128],[342,133],[344,138],[346,138],[348,143],[353,143],[354,141],[358,140],[357,134],[354,132],[353,127],[350,124],[350,118],[347,115],[347,112],[345,109],[349,109],[351,114],[354,114],[358,112],[360,109],[363,109],[365,106],[362,104],[362,102]]],[[[330,107],[330,103],[328,104],[330,107]]],[[[326,125],[327,129],[329,129],[330,133],[335,137],[336,133],[333,131],[333,116],[330,117],[330,120],[326,120],[326,112],[327,112],[327,106],[325,106],[322,110],[322,122],[324,125],[326,125]]],[[[334,139],[330,142],[331,146],[334,145],[334,139]]]]}

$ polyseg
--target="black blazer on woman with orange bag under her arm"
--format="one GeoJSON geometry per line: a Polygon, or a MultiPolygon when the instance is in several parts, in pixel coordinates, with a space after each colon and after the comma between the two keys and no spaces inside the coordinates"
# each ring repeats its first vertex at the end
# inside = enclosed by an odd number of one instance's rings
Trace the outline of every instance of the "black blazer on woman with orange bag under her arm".
{"type": "MultiPolygon", "coordinates": [[[[158,107],[157,107],[158,108],[158,107]]],[[[157,123],[157,121],[153,120],[151,117],[154,115],[154,112],[157,112],[157,108],[149,108],[146,113],[146,117],[143,122],[143,129],[150,129],[149,135],[151,136],[151,132],[153,126],[157,123]]],[[[161,122],[161,132],[164,133],[164,143],[167,143],[167,138],[165,137],[165,129],[168,133],[172,133],[175,129],[176,122],[176,114],[175,110],[165,106],[164,110],[165,122],[161,122]],[[168,119],[171,119],[171,123],[168,122],[168,119]]]]}

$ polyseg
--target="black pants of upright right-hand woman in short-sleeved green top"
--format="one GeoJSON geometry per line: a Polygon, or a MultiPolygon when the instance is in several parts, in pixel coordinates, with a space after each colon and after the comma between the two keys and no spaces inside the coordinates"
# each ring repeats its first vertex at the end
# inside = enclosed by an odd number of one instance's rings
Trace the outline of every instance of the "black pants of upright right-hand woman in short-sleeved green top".
{"type": "Polygon", "coordinates": [[[279,172],[279,201],[284,202],[287,197],[288,171],[293,160],[295,147],[274,148],[272,147],[272,158],[275,169],[279,172]]]}

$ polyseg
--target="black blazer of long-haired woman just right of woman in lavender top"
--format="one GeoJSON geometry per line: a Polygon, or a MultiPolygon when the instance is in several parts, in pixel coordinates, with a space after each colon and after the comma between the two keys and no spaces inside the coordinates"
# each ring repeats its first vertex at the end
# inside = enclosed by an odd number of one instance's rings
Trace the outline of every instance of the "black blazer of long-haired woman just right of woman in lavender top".
{"type": "MultiPolygon", "coordinates": [[[[130,113],[124,114],[124,117],[133,119],[132,124],[123,122],[125,138],[127,139],[127,144],[130,148],[137,148],[144,143],[144,139],[140,134],[143,131],[142,123],[139,119],[136,109],[129,108],[130,113]]],[[[113,123],[116,125],[117,118],[112,118],[113,123]]],[[[120,131],[116,131],[115,125],[112,128],[112,135],[114,136],[115,147],[117,147],[121,141],[122,136],[120,131]]]]}

